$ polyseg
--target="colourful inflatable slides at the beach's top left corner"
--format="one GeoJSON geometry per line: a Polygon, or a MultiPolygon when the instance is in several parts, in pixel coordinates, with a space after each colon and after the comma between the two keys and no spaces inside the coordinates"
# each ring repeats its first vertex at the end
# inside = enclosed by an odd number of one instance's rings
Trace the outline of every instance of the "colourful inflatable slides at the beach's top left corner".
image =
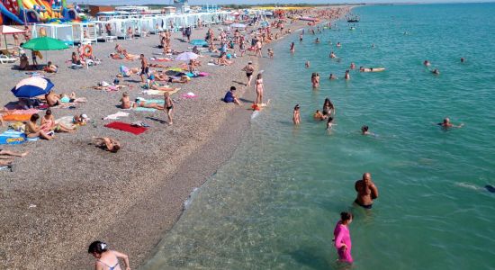
{"type": "Polygon", "coordinates": [[[0,0],[0,24],[77,22],[76,8],[66,0],[0,0]]]}

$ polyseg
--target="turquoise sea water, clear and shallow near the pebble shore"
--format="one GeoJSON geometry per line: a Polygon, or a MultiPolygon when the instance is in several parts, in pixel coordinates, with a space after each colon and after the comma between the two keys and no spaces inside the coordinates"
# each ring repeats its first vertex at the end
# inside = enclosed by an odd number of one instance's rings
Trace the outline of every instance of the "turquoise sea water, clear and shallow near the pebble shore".
{"type": "Polygon", "coordinates": [[[294,35],[275,44],[277,59],[264,59],[270,107],[146,268],[339,269],[333,229],[340,211],[353,211],[354,269],[495,269],[495,193],[483,187],[495,185],[495,4],[354,12],[356,31],[340,22],[320,44],[308,31],[302,43],[294,35]],[[422,66],[427,58],[440,76],[422,66]],[[346,82],[350,62],[387,70],[352,71],[346,82]],[[331,133],[311,119],[325,97],[337,106],[331,133]],[[446,116],[464,128],[432,124],[446,116]],[[378,136],[361,136],[363,124],[378,136]],[[352,205],[364,172],[380,191],[372,211],[352,205]]]}

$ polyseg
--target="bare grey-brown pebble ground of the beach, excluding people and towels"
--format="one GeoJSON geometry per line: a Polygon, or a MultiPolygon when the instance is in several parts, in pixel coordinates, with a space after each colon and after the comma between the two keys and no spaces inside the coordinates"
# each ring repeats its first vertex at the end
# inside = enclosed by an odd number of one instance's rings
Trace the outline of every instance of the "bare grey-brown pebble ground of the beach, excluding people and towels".
{"type": "MultiPolygon", "coordinates": [[[[305,22],[300,23],[297,29],[308,27],[305,22]]],[[[215,25],[215,30],[218,27],[220,25],[215,25]]],[[[193,35],[202,38],[203,31],[206,28],[194,31],[193,35]]],[[[129,47],[131,52],[146,49],[145,53],[149,56],[154,48],[141,46],[156,44],[156,37],[119,40],[119,43],[124,48],[129,47]]],[[[184,49],[188,46],[176,40],[177,33],[173,35],[173,48],[184,49]]],[[[104,55],[112,50],[112,46],[112,43],[98,44],[96,53],[101,49],[104,55]]],[[[58,59],[59,63],[64,58],[48,56],[58,59]]],[[[0,252],[0,265],[5,269],[39,266],[89,268],[93,258],[85,252],[85,248],[90,241],[102,239],[112,248],[129,254],[133,268],[143,266],[153,256],[163,235],[173,229],[180,219],[184,202],[193,189],[201,187],[220,166],[229,161],[243,139],[243,131],[249,128],[250,111],[219,102],[229,85],[237,86],[236,82],[245,80],[242,72],[235,74],[229,69],[239,70],[247,60],[253,60],[257,70],[269,68],[259,67],[258,58],[252,56],[237,58],[230,67],[204,66],[203,69],[211,72],[211,76],[184,85],[179,92],[193,90],[200,94],[201,102],[180,100],[179,110],[175,114],[179,123],[170,128],[164,129],[164,125],[151,122],[152,128],[157,129],[149,130],[141,137],[133,137],[120,131],[103,129],[102,121],[98,120],[97,128],[86,126],[78,130],[76,136],[64,134],[53,142],[40,141],[16,148],[7,146],[14,150],[30,149],[31,153],[30,157],[17,160],[21,167],[14,174],[0,172],[5,178],[10,178],[10,184],[2,188],[0,201],[4,203],[0,214],[12,217],[0,228],[0,243],[4,247],[0,252]],[[123,140],[123,151],[113,155],[87,146],[87,139],[84,138],[101,133],[123,140]],[[219,148],[219,145],[222,147],[219,148]],[[52,166],[43,167],[43,163],[52,166]],[[74,163],[85,168],[74,170],[74,163]],[[162,164],[165,166],[160,166],[162,164]],[[139,165],[139,170],[134,169],[135,165],[139,165]],[[39,171],[30,171],[31,166],[39,171]],[[36,207],[28,208],[30,203],[36,207]],[[49,247],[49,250],[41,247],[49,247]],[[32,260],[26,262],[25,257],[32,257],[32,260]]],[[[76,78],[72,76],[109,80],[107,69],[115,70],[121,62],[109,58],[103,58],[103,61],[101,74],[93,72],[89,75],[92,69],[61,71],[53,77],[52,81],[61,86],[55,89],[73,86],[76,78]]],[[[134,66],[136,64],[132,63],[134,66]]],[[[5,76],[8,70],[0,67],[0,74],[5,76]]],[[[18,81],[19,74],[16,71],[13,77],[6,80],[6,84],[18,81]]],[[[93,84],[83,82],[85,86],[93,84]]],[[[243,99],[253,100],[254,93],[249,91],[251,88],[238,88],[243,99]]],[[[136,90],[127,89],[129,92],[136,90]]],[[[115,103],[121,92],[104,93],[85,87],[76,90],[77,95],[95,98],[96,112],[102,115],[115,112],[115,108],[108,106],[108,103],[115,103]]],[[[91,112],[87,106],[86,103],[68,113],[91,112]]],[[[67,111],[58,109],[54,113],[58,118],[67,111]]],[[[159,112],[152,115],[164,117],[159,112]]],[[[97,117],[94,115],[94,119],[97,117]]],[[[142,115],[137,117],[124,118],[123,121],[139,120],[142,115]]]]}

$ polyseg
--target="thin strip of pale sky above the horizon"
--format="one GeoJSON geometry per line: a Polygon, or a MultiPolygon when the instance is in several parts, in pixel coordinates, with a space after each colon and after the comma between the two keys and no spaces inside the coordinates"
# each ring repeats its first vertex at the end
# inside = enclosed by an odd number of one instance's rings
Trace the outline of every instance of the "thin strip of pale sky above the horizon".
{"type": "MultiPolygon", "coordinates": [[[[495,0],[189,0],[189,4],[338,4],[338,3],[480,3],[494,2],[495,0]]],[[[171,4],[171,0],[68,0],[79,4],[171,4]]]]}

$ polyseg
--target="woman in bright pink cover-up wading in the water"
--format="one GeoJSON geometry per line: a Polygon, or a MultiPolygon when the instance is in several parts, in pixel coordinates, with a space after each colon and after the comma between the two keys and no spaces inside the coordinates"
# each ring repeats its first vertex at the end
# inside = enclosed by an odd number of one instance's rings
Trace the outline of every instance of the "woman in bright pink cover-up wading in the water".
{"type": "Polygon", "coordinates": [[[340,213],[340,220],[333,231],[335,248],[337,248],[338,261],[344,263],[353,263],[351,256],[351,234],[349,232],[348,225],[352,222],[352,213],[343,211],[340,213]]]}

